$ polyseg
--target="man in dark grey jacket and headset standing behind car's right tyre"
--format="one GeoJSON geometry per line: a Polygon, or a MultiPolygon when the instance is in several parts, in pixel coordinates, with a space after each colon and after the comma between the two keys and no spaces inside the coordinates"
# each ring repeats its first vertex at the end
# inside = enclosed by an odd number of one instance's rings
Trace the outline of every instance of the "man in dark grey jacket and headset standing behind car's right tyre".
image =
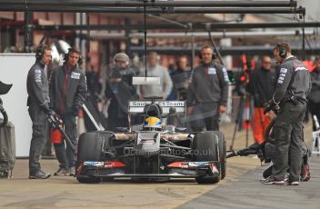
{"type": "Polygon", "coordinates": [[[214,50],[204,45],[201,65],[195,68],[186,97],[187,114],[193,131],[219,130],[218,120],[225,113],[229,78],[223,65],[214,62],[214,50]]]}

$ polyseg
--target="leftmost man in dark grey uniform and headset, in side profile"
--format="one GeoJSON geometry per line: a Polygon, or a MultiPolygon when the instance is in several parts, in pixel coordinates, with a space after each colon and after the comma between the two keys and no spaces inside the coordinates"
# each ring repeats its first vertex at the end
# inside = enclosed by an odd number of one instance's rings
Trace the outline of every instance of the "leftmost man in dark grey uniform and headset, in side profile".
{"type": "Polygon", "coordinates": [[[29,178],[45,179],[50,174],[41,170],[40,155],[44,149],[47,130],[46,114],[55,114],[49,109],[49,85],[45,72],[46,65],[51,62],[51,47],[40,45],[35,52],[35,65],[28,72],[26,89],[27,105],[32,120],[32,139],[29,153],[29,178]]]}

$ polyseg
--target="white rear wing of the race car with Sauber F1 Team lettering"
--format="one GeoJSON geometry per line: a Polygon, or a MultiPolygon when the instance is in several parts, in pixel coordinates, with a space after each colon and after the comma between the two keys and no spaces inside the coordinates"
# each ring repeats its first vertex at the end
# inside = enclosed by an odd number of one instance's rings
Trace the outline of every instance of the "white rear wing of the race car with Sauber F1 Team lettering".
{"type": "MultiPolygon", "coordinates": [[[[151,101],[130,101],[129,114],[143,114],[145,104],[151,104],[151,101]]],[[[163,114],[168,114],[170,107],[175,107],[177,114],[185,114],[185,101],[155,101],[155,104],[162,107],[163,114]]]]}

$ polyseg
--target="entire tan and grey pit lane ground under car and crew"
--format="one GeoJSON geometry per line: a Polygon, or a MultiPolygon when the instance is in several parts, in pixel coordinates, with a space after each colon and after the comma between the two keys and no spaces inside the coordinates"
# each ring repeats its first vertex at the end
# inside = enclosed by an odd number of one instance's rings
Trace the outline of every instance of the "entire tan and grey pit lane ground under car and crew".
{"type": "MultiPolygon", "coordinates": [[[[234,124],[221,128],[227,147],[233,128],[234,124]]],[[[311,134],[310,124],[305,132],[305,135],[311,134]]],[[[249,144],[252,142],[249,140],[249,144]]],[[[244,131],[236,134],[234,147],[245,147],[244,131]]],[[[311,161],[311,181],[292,187],[260,184],[264,168],[252,157],[228,159],[225,180],[219,184],[196,184],[193,179],[166,183],[119,180],[79,184],[68,176],[29,180],[28,161],[18,159],[14,178],[0,179],[0,208],[319,208],[315,205],[320,204],[317,190],[320,158],[314,157],[311,161]]],[[[52,173],[58,166],[54,159],[42,160],[41,164],[46,172],[52,173]]]]}

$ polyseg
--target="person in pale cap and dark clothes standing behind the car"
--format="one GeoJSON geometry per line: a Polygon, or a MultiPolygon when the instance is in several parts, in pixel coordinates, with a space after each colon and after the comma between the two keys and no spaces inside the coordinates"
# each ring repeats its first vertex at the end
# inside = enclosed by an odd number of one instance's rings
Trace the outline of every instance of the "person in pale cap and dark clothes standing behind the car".
{"type": "Polygon", "coordinates": [[[129,56],[118,53],[114,57],[114,68],[111,70],[106,85],[105,96],[110,99],[108,107],[108,130],[115,132],[116,127],[128,126],[128,102],[136,95],[132,77],[135,71],[130,67],[129,56]]]}

